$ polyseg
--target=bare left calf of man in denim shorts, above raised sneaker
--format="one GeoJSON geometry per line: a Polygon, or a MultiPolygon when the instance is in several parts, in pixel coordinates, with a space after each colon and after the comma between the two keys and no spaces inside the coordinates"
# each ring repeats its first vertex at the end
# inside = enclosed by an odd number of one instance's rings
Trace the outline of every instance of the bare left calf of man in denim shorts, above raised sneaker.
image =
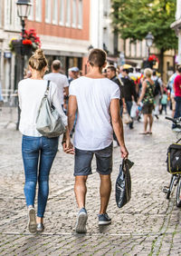
{"type": "Polygon", "coordinates": [[[75,176],[74,192],[79,209],[85,207],[87,178],[88,176],[75,176]]]}

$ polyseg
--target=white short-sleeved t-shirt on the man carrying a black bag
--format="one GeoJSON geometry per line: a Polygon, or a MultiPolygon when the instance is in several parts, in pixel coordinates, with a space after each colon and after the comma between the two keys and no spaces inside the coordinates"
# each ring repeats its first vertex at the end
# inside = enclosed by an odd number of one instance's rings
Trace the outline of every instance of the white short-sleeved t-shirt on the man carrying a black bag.
{"type": "Polygon", "coordinates": [[[119,99],[119,85],[108,78],[86,76],[73,80],[70,95],[76,96],[78,116],[74,146],[81,150],[100,150],[112,143],[110,102],[119,99]]]}

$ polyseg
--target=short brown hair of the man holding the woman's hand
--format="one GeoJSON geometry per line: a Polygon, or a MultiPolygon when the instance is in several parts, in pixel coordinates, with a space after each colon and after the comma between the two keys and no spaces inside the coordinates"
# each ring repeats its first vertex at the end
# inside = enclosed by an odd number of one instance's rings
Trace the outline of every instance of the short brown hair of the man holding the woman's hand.
{"type": "Polygon", "coordinates": [[[90,51],[88,61],[91,66],[102,67],[106,62],[107,54],[101,49],[92,49],[90,51]]]}

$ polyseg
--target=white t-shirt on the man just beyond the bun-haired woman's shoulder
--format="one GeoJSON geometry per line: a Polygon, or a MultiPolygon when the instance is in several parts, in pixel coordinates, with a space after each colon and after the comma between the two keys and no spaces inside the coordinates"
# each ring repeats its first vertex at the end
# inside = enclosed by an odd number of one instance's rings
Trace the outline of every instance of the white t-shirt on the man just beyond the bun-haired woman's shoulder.
{"type": "Polygon", "coordinates": [[[63,104],[63,88],[69,86],[67,76],[60,73],[50,73],[50,74],[45,74],[43,78],[45,80],[52,81],[54,84],[57,84],[58,89],[60,89],[60,95],[61,95],[60,103],[63,104]]]}

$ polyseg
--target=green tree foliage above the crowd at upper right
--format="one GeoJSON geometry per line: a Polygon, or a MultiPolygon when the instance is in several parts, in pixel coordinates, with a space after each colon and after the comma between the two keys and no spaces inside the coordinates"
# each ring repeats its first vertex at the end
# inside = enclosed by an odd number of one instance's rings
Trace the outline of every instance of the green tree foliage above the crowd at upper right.
{"type": "Polygon", "coordinates": [[[176,0],[112,0],[112,24],[123,39],[142,40],[151,32],[154,44],[163,53],[177,47],[176,0]]]}

